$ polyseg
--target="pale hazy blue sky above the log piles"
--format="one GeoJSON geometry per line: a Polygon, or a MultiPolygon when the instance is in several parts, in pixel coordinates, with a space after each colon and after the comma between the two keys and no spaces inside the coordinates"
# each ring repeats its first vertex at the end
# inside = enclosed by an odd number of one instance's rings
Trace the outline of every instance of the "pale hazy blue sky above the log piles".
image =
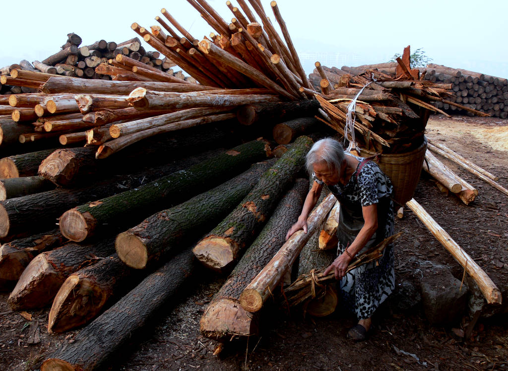
{"type": "MultiPolygon", "coordinates": [[[[70,32],[82,37],[82,45],[131,39],[137,34],[130,25],[157,24],[154,17],[162,16],[161,8],[198,39],[212,31],[185,0],[4,3],[0,67],[21,59],[43,60],[59,50],[70,32]]],[[[233,15],[226,0],[209,3],[230,21],[233,15]]],[[[270,1],[262,3],[274,21],[270,1]]],[[[411,45],[411,50],[423,48],[432,63],[508,77],[506,0],[279,0],[277,4],[307,74],[316,60],[338,68],[382,63],[411,45]]]]}

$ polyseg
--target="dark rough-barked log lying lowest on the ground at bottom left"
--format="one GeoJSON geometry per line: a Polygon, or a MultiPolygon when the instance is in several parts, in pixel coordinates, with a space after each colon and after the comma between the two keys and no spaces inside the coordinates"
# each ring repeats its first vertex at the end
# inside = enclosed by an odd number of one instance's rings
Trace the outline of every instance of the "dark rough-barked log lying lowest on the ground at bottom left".
{"type": "Polygon", "coordinates": [[[138,331],[156,318],[175,297],[196,265],[186,250],[150,274],[101,316],[82,329],[72,343],[63,344],[43,362],[41,371],[91,370],[105,366],[112,355],[136,339],[138,331]]]}

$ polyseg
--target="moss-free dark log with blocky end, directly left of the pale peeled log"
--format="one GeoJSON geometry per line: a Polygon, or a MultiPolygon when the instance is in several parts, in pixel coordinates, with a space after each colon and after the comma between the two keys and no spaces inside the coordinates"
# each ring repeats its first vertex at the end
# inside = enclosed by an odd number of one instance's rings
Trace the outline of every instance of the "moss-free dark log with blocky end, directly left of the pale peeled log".
{"type": "Polygon", "coordinates": [[[240,294],[284,243],[285,234],[298,219],[307,190],[307,180],[298,179],[279,202],[266,226],[231,272],[228,281],[208,304],[200,322],[204,336],[223,340],[234,335],[258,333],[259,316],[241,307],[240,294]]]}

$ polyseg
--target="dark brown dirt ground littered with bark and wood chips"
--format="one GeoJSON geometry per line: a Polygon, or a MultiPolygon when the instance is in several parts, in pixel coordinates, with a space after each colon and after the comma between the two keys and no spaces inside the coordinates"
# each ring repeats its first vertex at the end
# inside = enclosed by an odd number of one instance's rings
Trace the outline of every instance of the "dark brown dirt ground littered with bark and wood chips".
{"type": "MultiPolygon", "coordinates": [[[[427,137],[494,173],[508,188],[508,120],[431,116],[427,137]]],[[[442,161],[479,190],[477,200],[466,206],[453,195],[440,194],[425,173],[414,198],[494,282],[506,281],[508,196],[453,163],[442,161]]],[[[177,305],[168,304],[165,315],[152,319],[153,327],[133,338],[132,344],[115,356],[111,369],[508,369],[505,314],[481,318],[468,339],[461,337],[471,321],[468,313],[457,323],[428,323],[416,287],[426,273],[424,263],[447,265],[459,280],[462,268],[407,208],[404,219],[396,221],[395,230],[403,231],[395,242],[395,273],[400,287],[379,308],[364,343],[346,339],[347,329],[355,323],[351,315],[336,311],[326,318],[304,318],[298,310],[288,313],[272,304],[262,316],[260,336],[233,339],[215,356],[218,343],[201,336],[199,321],[225,279],[203,271],[177,305]],[[402,283],[406,283],[405,289],[402,283]]],[[[0,370],[38,369],[45,355],[78,332],[49,335],[45,329],[48,308],[23,317],[9,310],[7,297],[0,294],[0,370]],[[37,344],[29,344],[34,340],[37,344]]]]}

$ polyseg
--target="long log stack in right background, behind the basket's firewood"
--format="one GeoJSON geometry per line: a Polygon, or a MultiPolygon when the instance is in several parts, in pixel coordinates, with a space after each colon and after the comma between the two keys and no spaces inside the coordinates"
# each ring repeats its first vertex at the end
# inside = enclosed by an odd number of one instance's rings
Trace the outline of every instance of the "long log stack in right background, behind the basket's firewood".
{"type": "MultiPolygon", "coordinates": [[[[331,69],[324,67],[324,69],[327,71],[330,82],[338,84],[341,76],[345,74],[361,75],[368,70],[395,76],[396,67],[396,62],[388,62],[357,67],[342,66],[340,70],[336,67],[331,69]]],[[[474,114],[470,110],[460,107],[464,106],[482,111],[490,116],[508,117],[507,79],[435,64],[428,64],[427,67],[419,68],[419,70],[421,74],[425,72],[424,79],[427,81],[451,84],[449,89],[452,93],[449,98],[451,103],[434,102],[433,105],[436,108],[440,108],[449,114],[474,114]]],[[[317,68],[309,75],[309,79],[316,88],[320,87],[321,75],[317,68]]]]}

